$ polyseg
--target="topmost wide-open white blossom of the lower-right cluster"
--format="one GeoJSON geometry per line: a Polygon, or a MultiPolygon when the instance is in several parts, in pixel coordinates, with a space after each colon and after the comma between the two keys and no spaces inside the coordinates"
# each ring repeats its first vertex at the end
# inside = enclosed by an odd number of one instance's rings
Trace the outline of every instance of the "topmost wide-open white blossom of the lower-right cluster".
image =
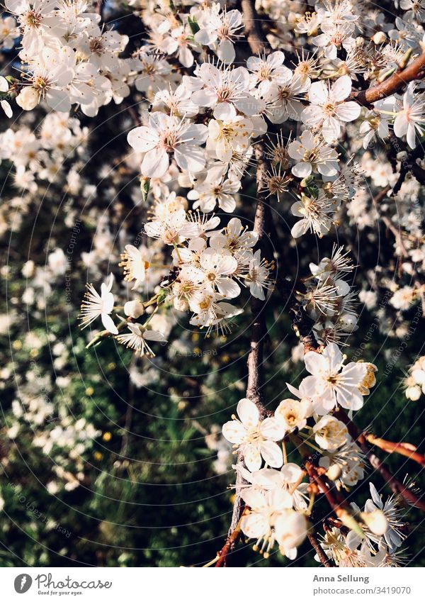
{"type": "Polygon", "coordinates": [[[303,379],[302,387],[305,395],[312,398],[314,411],[323,414],[336,405],[348,410],[363,406],[361,386],[368,364],[350,362],[344,366],[344,356],[335,343],[327,345],[323,353],[308,351],[304,361],[312,376],[303,379]]]}

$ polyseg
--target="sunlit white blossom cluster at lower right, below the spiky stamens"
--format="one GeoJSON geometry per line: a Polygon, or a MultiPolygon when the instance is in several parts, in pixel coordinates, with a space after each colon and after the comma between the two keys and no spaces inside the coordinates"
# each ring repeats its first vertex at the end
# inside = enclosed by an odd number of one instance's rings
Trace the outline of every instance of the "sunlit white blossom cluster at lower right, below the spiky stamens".
{"type": "MultiPolygon", "coordinates": [[[[234,468],[251,484],[241,494],[250,508],[242,518],[243,532],[258,540],[257,547],[263,542],[261,551],[266,554],[276,541],[280,552],[291,559],[307,535],[309,496],[303,482],[305,472],[297,464],[285,462],[278,442],[295,435],[298,446],[310,445],[321,453],[319,466],[339,488],[356,485],[364,478],[363,454],[334,411],[339,407],[360,409],[363,396],[375,384],[376,371],[373,364],[345,363],[335,343],[329,343],[322,353],[307,352],[304,359],[310,375],[298,389],[287,384],[293,397],[280,401],[273,416],[262,418],[256,404],[244,398],[237,406],[239,418],[225,423],[222,431],[246,467],[238,464],[234,468]]],[[[369,514],[372,511],[365,510],[361,520],[383,523],[382,533],[387,533],[385,517],[378,521],[369,514]]]]}

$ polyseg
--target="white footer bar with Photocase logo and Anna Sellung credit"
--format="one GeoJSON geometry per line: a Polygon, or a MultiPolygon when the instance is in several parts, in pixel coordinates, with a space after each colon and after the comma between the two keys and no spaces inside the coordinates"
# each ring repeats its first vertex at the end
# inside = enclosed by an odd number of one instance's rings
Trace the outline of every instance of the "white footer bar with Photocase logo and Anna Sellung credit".
{"type": "Polygon", "coordinates": [[[1,601],[423,602],[425,569],[0,569],[1,601]]]}

